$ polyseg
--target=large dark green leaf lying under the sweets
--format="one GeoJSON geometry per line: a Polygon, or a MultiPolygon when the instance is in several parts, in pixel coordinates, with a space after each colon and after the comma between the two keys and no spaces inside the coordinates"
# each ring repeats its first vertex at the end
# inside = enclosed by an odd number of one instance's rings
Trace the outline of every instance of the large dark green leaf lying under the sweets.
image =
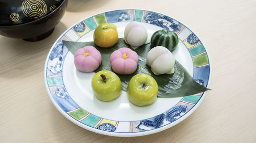
{"type": "MultiPolygon", "coordinates": [[[[101,53],[102,63],[99,66],[99,68],[95,70],[95,72],[101,70],[112,71],[110,64],[111,53],[122,47],[130,47],[130,45],[126,44],[122,38],[119,38],[118,42],[110,48],[101,48],[95,45],[94,42],[63,41],[63,43],[66,45],[66,47],[72,54],[75,54],[76,50],[78,50],[79,48],[83,48],[84,46],[88,45],[94,46],[97,50],[99,50],[101,53]]],[[[155,78],[159,89],[158,97],[182,97],[210,90],[203,87],[201,84],[195,81],[178,61],[176,61],[175,63],[174,74],[155,75],[151,71],[151,67],[146,65],[146,55],[148,51],[150,51],[150,49],[151,44],[145,44],[134,50],[139,55],[139,63],[137,70],[133,74],[117,74],[122,81],[123,91],[127,90],[127,85],[130,79],[138,73],[145,73],[155,78]]]]}

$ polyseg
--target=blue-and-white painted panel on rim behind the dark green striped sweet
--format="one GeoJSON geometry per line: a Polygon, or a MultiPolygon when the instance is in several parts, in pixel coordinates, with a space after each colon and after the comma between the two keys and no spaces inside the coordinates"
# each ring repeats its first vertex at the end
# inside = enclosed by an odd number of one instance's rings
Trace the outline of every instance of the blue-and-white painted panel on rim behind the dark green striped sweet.
{"type": "Polygon", "coordinates": [[[180,30],[180,22],[159,13],[150,12],[144,16],[144,19],[147,23],[160,26],[165,30],[170,30],[173,32],[180,30]]]}

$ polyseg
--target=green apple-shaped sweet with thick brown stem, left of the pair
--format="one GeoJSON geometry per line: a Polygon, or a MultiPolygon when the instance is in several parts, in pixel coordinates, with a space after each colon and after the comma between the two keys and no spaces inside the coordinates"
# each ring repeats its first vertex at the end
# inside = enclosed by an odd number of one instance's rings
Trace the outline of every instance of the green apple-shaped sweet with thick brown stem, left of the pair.
{"type": "Polygon", "coordinates": [[[99,100],[111,101],[121,94],[122,83],[114,72],[103,70],[93,76],[92,89],[99,100]]]}

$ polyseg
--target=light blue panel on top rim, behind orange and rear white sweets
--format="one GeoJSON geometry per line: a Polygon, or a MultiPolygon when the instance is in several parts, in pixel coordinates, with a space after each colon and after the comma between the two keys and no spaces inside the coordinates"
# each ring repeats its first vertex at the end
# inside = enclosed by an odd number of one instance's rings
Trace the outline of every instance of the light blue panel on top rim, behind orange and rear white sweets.
{"type": "Polygon", "coordinates": [[[119,22],[120,16],[124,13],[126,13],[126,10],[110,11],[105,13],[105,17],[108,23],[119,22]]]}

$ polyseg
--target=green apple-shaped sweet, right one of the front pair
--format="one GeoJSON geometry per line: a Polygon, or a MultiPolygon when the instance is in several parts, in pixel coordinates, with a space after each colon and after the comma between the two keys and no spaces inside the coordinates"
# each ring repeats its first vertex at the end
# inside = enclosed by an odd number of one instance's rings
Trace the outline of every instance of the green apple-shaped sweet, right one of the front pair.
{"type": "Polygon", "coordinates": [[[150,105],[155,102],[158,95],[157,82],[148,74],[136,74],[128,84],[127,95],[134,105],[150,105]]]}

